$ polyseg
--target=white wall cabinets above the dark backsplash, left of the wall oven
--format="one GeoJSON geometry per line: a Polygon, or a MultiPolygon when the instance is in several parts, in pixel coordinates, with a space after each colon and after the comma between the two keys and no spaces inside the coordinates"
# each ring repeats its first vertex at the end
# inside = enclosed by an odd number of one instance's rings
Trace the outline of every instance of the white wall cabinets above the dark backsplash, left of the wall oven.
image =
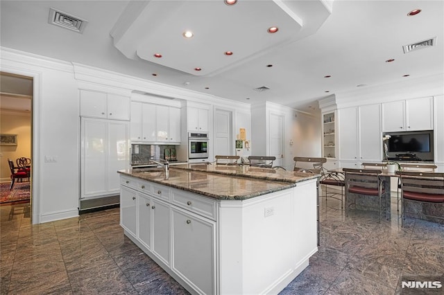
{"type": "Polygon", "coordinates": [[[131,102],[131,141],[180,143],[180,108],[131,102]]]}

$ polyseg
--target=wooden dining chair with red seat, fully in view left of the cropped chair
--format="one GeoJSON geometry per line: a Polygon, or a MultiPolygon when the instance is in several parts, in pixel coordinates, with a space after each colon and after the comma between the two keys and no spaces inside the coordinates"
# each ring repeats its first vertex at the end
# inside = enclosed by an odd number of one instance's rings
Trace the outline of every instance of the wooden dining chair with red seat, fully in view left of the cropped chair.
{"type": "Polygon", "coordinates": [[[379,178],[382,170],[343,168],[345,172],[345,216],[348,216],[350,193],[375,196],[378,198],[379,223],[382,215],[382,194],[384,182],[379,178]]]}

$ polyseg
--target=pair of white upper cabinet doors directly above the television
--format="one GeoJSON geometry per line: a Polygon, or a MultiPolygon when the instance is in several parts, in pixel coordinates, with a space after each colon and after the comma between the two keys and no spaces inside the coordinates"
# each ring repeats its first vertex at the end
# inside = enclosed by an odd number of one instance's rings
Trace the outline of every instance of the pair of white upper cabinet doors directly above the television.
{"type": "Polygon", "coordinates": [[[383,132],[431,130],[433,98],[414,98],[382,104],[383,132]]]}

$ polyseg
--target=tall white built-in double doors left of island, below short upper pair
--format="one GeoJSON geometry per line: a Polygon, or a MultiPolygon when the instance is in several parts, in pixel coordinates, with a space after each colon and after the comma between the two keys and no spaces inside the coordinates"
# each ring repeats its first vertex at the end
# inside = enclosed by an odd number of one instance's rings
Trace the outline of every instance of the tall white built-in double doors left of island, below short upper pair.
{"type": "Polygon", "coordinates": [[[128,122],[82,118],[81,196],[117,195],[117,170],[128,168],[128,122]]]}

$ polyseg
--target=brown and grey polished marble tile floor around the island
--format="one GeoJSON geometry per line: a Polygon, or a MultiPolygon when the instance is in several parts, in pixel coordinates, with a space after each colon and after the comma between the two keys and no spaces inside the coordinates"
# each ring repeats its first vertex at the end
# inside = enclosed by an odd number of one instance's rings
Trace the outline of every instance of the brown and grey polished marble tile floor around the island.
{"type": "MultiPolygon", "coordinates": [[[[319,251],[281,294],[401,294],[402,276],[443,276],[444,225],[401,228],[392,201],[379,224],[321,197],[319,251]]],[[[26,206],[0,207],[1,294],[188,294],[124,237],[119,208],[31,225],[26,206]]]]}

